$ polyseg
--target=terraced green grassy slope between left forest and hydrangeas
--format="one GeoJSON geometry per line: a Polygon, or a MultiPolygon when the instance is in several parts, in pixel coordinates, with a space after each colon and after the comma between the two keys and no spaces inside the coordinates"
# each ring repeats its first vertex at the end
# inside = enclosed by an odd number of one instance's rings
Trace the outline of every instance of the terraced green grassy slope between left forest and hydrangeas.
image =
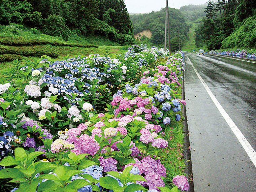
{"type": "Polygon", "coordinates": [[[55,61],[63,60],[67,55],[71,58],[100,54],[115,58],[115,55],[125,53],[128,47],[103,36],[85,37],[74,33],[68,41],[64,41],[61,37],[45,35],[22,25],[0,25],[0,76],[5,69],[13,67],[12,61],[15,59],[23,64],[27,60],[38,60],[42,55],[50,56],[55,61]]]}

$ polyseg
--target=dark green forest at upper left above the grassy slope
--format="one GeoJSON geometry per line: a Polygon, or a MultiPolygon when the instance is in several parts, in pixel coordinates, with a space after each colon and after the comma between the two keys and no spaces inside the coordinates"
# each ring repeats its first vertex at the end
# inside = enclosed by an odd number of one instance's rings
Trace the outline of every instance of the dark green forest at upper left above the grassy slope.
{"type": "Polygon", "coordinates": [[[60,36],[106,36],[120,44],[134,41],[124,0],[0,0],[0,24],[20,24],[60,36]]]}

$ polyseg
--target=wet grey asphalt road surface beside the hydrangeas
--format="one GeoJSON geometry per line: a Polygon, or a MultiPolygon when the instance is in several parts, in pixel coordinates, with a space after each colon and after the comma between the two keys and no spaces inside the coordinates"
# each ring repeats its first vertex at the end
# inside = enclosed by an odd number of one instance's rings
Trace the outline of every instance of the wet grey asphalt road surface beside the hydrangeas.
{"type": "MultiPolygon", "coordinates": [[[[256,151],[256,64],[187,54],[256,151]]],[[[195,192],[256,192],[256,168],[185,60],[186,113],[195,192]]]]}

